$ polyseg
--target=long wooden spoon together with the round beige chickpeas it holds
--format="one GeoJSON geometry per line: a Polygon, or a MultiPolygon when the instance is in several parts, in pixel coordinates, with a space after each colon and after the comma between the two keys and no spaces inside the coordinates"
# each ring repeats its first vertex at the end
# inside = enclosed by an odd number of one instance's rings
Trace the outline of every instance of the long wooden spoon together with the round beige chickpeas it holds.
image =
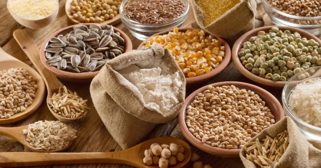
{"type": "Polygon", "coordinates": [[[0,153],[0,157],[2,158],[0,160],[0,167],[40,166],[51,164],[112,163],[128,164],[138,168],[180,168],[189,162],[191,155],[191,148],[184,140],[173,137],[160,137],[142,142],[134,147],[118,152],[2,152],[0,153]],[[153,164],[153,160],[155,160],[153,158],[158,158],[158,163],[155,162],[155,164],[153,164]],[[176,162],[173,161],[173,158],[176,159],[176,162]],[[172,162],[170,163],[170,161],[172,162]]]}

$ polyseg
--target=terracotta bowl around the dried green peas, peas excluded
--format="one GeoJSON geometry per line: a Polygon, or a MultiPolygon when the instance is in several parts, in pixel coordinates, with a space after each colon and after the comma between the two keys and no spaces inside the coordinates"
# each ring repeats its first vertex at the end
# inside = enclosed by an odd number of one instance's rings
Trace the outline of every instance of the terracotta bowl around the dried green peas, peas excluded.
{"type": "Polygon", "coordinates": [[[241,62],[241,60],[239,58],[239,52],[243,47],[243,43],[247,42],[252,36],[256,36],[258,31],[268,32],[269,30],[271,30],[272,27],[278,27],[279,30],[282,30],[282,31],[289,30],[289,31],[291,31],[291,33],[298,32],[298,33],[300,33],[302,38],[305,37],[308,40],[309,39],[314,39],[321,45],[321,40],[318,39],[313,34],[307,32],[307,31],[304,31],[304,30],[301,30],[301,29],[298,29],[298,28],[294,28],[294,27],[286,27],[286,26],[265,26],[265,27],[260,27],[260,28],[251,30],[251,31],[243,34],[234,43],[234,46],[233,46],[233,49],[232,49],[232,60],[233,60],[233,63],[235,65],[235,67],[239,70],[239,72],[241,74],[243,74],[244,76],[246,76],[247,78],[251,79],[252,81],[257,82],[259,84],[272,86],[272,87],[284,87],[285,84],[286,84],[286,81],[283,82],[283,81],[268,80],[268,79],[264,79],[264,78],[261,78],[261,77],[259,77],[257,75],[252,74],[249,70],[247,70],[243,66],[243,64],[242,64],[242,62],[241,62]]]}

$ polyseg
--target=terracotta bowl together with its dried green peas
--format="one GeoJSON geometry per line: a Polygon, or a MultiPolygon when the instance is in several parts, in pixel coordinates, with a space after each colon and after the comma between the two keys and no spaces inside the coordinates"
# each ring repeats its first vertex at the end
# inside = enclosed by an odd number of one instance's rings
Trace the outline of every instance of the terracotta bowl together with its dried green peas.
{"type": "Polygon", "coordinates": [[[252,81],[284,87],[294,75],[321,66],[321,40],[287,26],[265,26],[242,35],[232,49],[232,60],[252,81]]]}

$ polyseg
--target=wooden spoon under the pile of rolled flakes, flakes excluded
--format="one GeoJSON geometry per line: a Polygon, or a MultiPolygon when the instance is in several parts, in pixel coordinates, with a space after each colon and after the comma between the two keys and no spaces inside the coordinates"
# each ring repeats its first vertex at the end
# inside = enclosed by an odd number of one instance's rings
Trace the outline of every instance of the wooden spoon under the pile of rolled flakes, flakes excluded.
{"type": "Polygon", "coordinates": [[[24,129],[28,129],[28,125],[21,126],[21,127],[0,127],[0,135],[11,137],[17,140],[18,142],[20,142],[22,145],[26,146],[28,149],[35,152],[62,152],[66,150],[69,146],[71,146],[71,144],[74,142],[74,140],[70,141],[68,146],[59,150],[51,150],[51,151],[39,150],[39,149],[36,149],[34,146],[31,146],[30,142],[26,140],[27,135],[23,134],[23,131],[22,131],[24,129]]]}

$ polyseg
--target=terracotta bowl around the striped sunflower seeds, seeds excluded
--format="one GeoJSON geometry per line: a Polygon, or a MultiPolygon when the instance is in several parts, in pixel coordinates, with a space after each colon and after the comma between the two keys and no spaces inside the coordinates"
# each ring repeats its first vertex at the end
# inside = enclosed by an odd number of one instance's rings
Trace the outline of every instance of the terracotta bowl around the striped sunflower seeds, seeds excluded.
{"type": "MultiPolygon", "coordinates": [[[[85,25],[87,27],[89,27],[91,23],[82,23],[82,24],[75,24],[75,25],[72,25],[72,26],[68,26],[68,27],[65,27],[63,29],[60,29],[56,32],[54,32],[53,34],[51,34],[41,45],[40,47],[40,60],[42,62],[42,64],[52,73],[54,73],[57,77],[59,78],[62,78],[66,81],[70,81],[70,82],[90,82],[92,80],[92,78],[94,78],[98,73],[99,71],[96,71],[96,72],[88,72],[88,73],[72,73],[72,72],[67,72],[67,71],[62,71],[62,70],[59,70],[57,69],[56,67],[54,66],[50,66],[49,64],[46,63],[47,61],[47,58],[45,57],[45,48],[47,47],[48,43],[49,43],[49,40],[52,38],[52,37],[57,37],[59,36],[60,34],[62,35],[65,35],[67,33],[69,33],[70,31],[73,30],[73,27],[74,26],[77,26],[77,25],[85,25]]],[[[128,51],[131,51],[133,49],[133,45],[132,45],[132,42],[131,40],[129,39],[129,37],[126,35],[125,32],[117,29],[116,27],[113,27],[114,28],[114,31],[115,32],[119,32],[120,33],[120,36],[122,38],[124,38],[125,40],[125,52],[128,52],[128,51]]]]}

